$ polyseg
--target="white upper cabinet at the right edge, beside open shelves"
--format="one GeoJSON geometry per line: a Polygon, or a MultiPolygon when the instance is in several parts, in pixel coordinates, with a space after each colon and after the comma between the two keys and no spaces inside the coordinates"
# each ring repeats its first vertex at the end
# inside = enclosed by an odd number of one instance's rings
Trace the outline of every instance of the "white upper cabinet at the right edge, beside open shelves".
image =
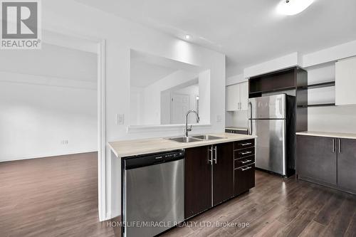
{"type": "Polygon", "coordinates": [[[356,105],[356,58],[335,63],[335,105],[356,105]]]}

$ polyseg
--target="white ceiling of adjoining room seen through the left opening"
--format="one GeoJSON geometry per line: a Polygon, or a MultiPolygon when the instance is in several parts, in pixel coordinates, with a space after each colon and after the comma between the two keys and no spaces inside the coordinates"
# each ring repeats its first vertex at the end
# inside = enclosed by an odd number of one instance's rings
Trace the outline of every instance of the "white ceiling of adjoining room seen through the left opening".
{"type": "Polygon", "coordinates": [[[95,83],[98,80],[98,56],[43,43],[40,51],[1,51],[0,71],[95,83]]]}

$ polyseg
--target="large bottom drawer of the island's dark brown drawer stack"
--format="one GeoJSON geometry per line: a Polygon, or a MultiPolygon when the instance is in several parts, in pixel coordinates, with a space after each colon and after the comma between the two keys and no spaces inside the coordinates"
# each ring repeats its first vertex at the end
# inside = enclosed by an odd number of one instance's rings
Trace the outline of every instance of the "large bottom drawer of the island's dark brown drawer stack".
{"type": "Polygon", "coordinates": [[[255,164],[235,169],[234,194],[243,194],[255,186],[255,164]]]}

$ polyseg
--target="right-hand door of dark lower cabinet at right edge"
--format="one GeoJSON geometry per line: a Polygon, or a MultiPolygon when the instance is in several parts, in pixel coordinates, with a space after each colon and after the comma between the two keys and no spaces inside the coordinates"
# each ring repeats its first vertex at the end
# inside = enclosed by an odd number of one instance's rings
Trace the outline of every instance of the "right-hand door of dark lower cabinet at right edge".
{"type": "Polygon", "coordinates": [[[337,139],[337,186],[356,193],[356,139],[337,139]]]}

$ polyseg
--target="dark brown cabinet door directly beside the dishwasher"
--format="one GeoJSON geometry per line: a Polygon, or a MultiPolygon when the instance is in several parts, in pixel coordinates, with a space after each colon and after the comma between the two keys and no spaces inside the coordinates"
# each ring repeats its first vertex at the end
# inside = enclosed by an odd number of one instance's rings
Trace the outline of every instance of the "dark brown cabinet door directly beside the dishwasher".
{"type": "Polygon", "coordinates": [[[184,218],[186,219],[211,207],[209,147],[194,147],[185,151],[184,218]]]}

